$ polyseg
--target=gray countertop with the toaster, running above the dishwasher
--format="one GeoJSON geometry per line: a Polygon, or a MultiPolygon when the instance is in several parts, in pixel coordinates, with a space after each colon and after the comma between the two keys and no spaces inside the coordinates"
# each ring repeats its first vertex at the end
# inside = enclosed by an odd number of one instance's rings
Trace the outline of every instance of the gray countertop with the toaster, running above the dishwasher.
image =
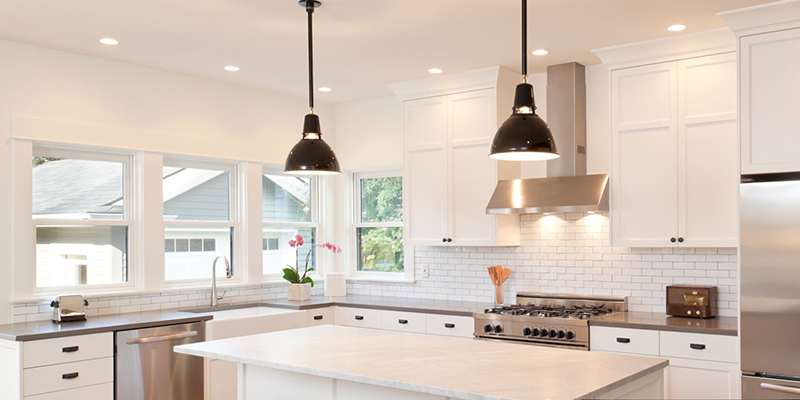
{"type": "Polygon", "coordinates": [[[52,321],[26,322],[21,324],[0,325],[0,339],[22,342],[62,336],[87,335],[91,333],[185,324],[207,321],[211,318],[211,315],[192,314],[180,311],[148,311],[89,317],[87,321],[64,322],[61,324],[52,321]]]}

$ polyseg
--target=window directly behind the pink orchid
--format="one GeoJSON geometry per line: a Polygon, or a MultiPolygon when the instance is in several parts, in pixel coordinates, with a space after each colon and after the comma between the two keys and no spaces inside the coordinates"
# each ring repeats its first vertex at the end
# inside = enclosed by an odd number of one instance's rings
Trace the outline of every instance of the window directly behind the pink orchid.
{"type": "MultiPolygon", "coordinates": [[[[295,235],[305,239],[299,249],[301,258],[317,244],[317,191],[316,178],[264,172],[261,177],[264,275],[280,276],[286,265],[295,265],[297,249],[289,246],[295,235]]],[[[316,257],[316,251],[312,251],[309,266],[316,266],[316,257]]]]}

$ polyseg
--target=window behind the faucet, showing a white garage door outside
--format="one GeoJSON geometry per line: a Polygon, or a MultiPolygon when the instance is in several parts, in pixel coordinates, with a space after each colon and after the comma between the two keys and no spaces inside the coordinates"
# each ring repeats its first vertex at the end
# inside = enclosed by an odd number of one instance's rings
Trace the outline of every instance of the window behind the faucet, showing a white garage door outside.
{"type": "MultiPolygon", "coordinates": [[[[165,160],[164,272],[167,282],[211,278],[217,256],[233,260],[235,166],[165,160]]],[[[224,268],[217,268],[224,277],[224,268]]]]}

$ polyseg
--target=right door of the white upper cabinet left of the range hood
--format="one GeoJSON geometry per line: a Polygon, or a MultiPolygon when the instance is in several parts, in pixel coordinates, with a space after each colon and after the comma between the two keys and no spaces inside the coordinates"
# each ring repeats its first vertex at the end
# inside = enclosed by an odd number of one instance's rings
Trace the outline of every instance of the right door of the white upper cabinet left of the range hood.
{"type": "Polygon", "coordinates": [[[486,205],[497,186],[497,161],[489,158],[497,131],[492,89],[447,96],[450,170],[450,220],[453,246],[497,244],[497,217],[486,205]]]}

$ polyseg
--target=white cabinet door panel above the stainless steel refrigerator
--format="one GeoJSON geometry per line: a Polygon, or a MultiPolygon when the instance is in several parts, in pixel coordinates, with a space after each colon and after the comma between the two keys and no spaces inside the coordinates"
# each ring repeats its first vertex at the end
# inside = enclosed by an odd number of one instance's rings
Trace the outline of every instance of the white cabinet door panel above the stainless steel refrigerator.
{"type": "Polygon", "coordinates": [[[742,174],[800,171],[800,29],[741,38],[742,174]]]}

